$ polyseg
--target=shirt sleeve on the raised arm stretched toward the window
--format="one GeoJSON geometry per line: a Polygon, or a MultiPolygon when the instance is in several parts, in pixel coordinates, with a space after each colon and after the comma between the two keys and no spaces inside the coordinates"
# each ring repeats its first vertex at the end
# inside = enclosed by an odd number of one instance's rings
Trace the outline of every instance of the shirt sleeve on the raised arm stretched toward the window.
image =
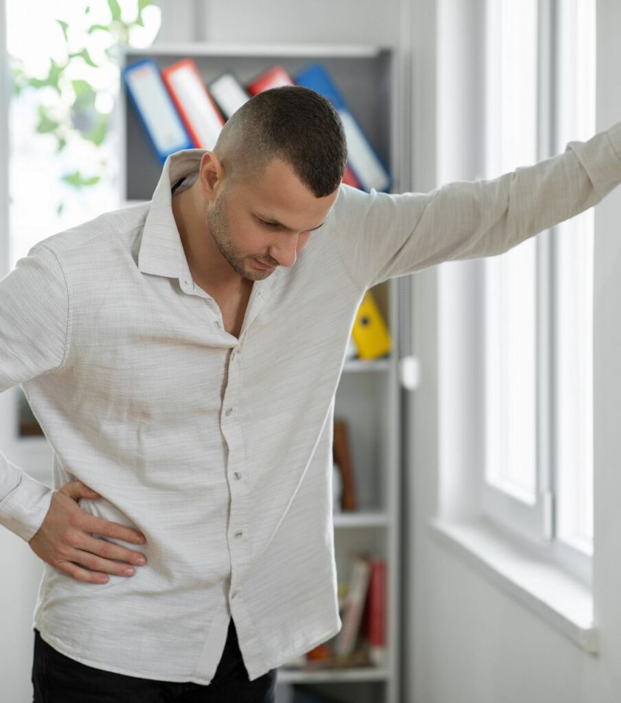
{"type": "Polygon", "coordinates": [[[354,282],[371,288],[441,262],[502,254],[596,205],[618,183],[621,122],[493,180],[399,195],[343,185],[338,248],[354,282]]]}

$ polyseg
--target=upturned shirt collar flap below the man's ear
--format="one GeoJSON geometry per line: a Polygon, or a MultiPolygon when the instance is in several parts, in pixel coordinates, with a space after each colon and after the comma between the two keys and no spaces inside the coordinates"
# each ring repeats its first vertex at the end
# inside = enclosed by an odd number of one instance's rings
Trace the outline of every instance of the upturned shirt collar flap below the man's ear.
{"type": "Polygon", "coordinates": [[[153,193],[138,253],[138,268],[169,278],[188,278],[189,269],[177,223],[172,214],[172,186],[196,174],[205,149],[184,149],[169,155],[153,193]]]}

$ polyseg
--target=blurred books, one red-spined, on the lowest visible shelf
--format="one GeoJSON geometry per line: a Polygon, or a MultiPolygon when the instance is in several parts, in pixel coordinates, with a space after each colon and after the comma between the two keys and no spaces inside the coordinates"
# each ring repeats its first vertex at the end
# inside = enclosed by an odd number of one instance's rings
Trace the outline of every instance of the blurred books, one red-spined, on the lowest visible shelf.
{"type": "Polygon", "coordinates": [[[339,584],[342,628],[283,669],[321,671],[380,667],[386,663],[386,564],[369,553],[354,558],[348,584],[339,584]],[[346,588],[345,588],[346,586],[346,588]]]}

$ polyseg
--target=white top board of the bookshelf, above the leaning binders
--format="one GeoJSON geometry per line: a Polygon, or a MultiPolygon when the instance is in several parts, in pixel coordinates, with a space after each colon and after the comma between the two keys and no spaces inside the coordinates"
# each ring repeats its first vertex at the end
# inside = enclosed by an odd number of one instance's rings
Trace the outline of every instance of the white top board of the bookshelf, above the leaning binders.
{"type": "Polygon", "coordinates": [[[132,56],[297,56],[309,58],[373,58],[390,49],[376,44],[217,44],[179,42],[152,44],[144,49],[125,49],[132,56]]]}

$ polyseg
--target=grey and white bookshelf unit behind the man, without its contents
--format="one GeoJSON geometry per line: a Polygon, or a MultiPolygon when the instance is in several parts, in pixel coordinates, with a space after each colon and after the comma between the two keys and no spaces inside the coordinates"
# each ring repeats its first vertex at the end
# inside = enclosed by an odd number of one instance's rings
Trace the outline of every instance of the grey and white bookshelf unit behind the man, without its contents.
{"type": "MultiPolygon", "coordinates": [[[[402,188],[399,174],[399,100],[396,58],[390,49],[371,45],[287,44],[154,44],[127,49],[124,64],[153,58],[160,68],[191,57],[205,82],[231,71],[246,84],[278,63],[290,73],[321,61],[331,73],[354,117],[373,143],[393,177],[393,191],[402,188]]],[[[120,193],[124,203],[148,200],[160,176],[155,150],[134,110],[120,101],[120,193]]],[[[357,510],[334,514],[335,558],[339,583],[349,583],[352,562],[361,552],[385,560],[386,651],[381,666],[314,669],[281,666],[279,686],[295,685],[319,700],[351,703],[397,703],[399,700],[399,622],[401,611],[400,483],[401,402],[399,387],[399,319],[406,295],[402,279],[373,289],[390,330],[392,352],[375,361],[345,362],[335,396],[335,420],[347,421],[354,467],[357,510]],[[324,696],[322,698],[321,696],[324,696]]]]}

